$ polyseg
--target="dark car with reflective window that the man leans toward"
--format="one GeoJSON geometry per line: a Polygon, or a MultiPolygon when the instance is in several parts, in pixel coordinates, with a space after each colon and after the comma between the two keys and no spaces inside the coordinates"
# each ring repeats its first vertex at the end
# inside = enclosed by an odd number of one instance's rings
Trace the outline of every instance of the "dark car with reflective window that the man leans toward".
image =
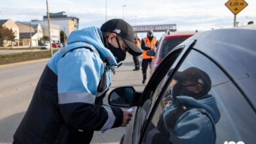
{"type": "Polygon", "coordinates": [[[255,143],[255,39],[256,29],[198,33],[165,56],[142,93],[110,92],[110,105],[136,109],[121,143],[255,143]]]}

